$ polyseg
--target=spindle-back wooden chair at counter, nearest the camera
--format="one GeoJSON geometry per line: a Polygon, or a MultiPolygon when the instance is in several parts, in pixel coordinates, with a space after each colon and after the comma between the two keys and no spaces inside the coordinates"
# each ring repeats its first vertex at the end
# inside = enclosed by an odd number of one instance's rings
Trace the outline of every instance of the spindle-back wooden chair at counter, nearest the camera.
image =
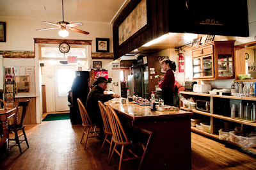
{"type": "Polygon", "coordinates": [[[120,156],[119,167],[118,167],[118,170],[120,170],[121,166],[122,166],[122,161],[133,160],[133,159],[137,159],[137,158],[141,158],[141,157],[138,157],[135,153],[133,153],[129,149],[128,149],[129,152],[134,157],[129,157],[129,155],[124,153],[124,146],[128,146],[128,145],[132,146],[132,141],[129,141],[129,139],[127,138],[124,128],[123,128],[118,116],[116,115],[116,112],[113,110],[113,108],[109,104],[106,104],[106,108],[107,108],[107,112],[108,112],[108,116],[109,116],[110,127],[111,127],[111,130],[113,133],[113,143],[115,143],[115,146],[114,146],[111,156],[109,158],[109,164],[110,164],[111,158],[113,157],[113,153],[115,151],[120,156]],[[117,145],[122,146],[121,153],[118,150],[116,150],[117,145]],[[125,155],[127,158],[123,159],[123,155],[125,155]]]}

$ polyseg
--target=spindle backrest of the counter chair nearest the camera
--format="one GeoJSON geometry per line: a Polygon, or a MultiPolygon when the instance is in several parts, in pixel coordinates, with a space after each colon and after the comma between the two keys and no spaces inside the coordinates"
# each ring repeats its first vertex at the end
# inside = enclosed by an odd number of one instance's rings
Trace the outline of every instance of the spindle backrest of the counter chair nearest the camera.
{"type": "Polygon", "coordinates": [[[106,104],[106,109],[108,112],[110,127],[113,133],[113,140],[119,143],[129,142],[127,135],[124,132],[122,123],[120,122],[114,109],[109,104],[106,104]]]}

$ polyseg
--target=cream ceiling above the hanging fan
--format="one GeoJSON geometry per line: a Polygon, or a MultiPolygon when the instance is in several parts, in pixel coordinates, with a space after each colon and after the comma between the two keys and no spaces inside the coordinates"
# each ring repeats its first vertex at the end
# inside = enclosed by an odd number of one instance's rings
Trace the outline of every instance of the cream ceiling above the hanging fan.
{"type": "MultiPolygon", "coordinates": [[[[127,0],[63,0],[64,20],[108,22],[127,0]]],[[[62,0],[0,0],[0,17],[62,21],[62,0]]]]}

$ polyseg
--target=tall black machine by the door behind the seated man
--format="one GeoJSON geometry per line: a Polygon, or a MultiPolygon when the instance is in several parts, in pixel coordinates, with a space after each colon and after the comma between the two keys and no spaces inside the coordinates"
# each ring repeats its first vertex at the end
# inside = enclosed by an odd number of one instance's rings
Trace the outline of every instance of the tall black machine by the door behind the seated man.
{"type": "Polygon", "coordinates": [[[90,72],[76,71],[75,79],[68,91],[68,104],[70,108],[70,121],[72,125],[82,124],[81,114],[77,104],[77,98],[86,105],[87,95],[89,93],[88,79],[90,79],[90,72]]]}

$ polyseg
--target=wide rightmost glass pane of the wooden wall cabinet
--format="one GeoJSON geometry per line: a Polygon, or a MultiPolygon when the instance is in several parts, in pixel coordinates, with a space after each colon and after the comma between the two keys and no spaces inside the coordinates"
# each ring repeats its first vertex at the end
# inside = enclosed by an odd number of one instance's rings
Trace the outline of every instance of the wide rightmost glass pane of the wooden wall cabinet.
{"type": "Polygon", "coordinates": [[[234,77],[233,63],[232,54],[218,54],[218,77],[225,79],[234,77]]]}

